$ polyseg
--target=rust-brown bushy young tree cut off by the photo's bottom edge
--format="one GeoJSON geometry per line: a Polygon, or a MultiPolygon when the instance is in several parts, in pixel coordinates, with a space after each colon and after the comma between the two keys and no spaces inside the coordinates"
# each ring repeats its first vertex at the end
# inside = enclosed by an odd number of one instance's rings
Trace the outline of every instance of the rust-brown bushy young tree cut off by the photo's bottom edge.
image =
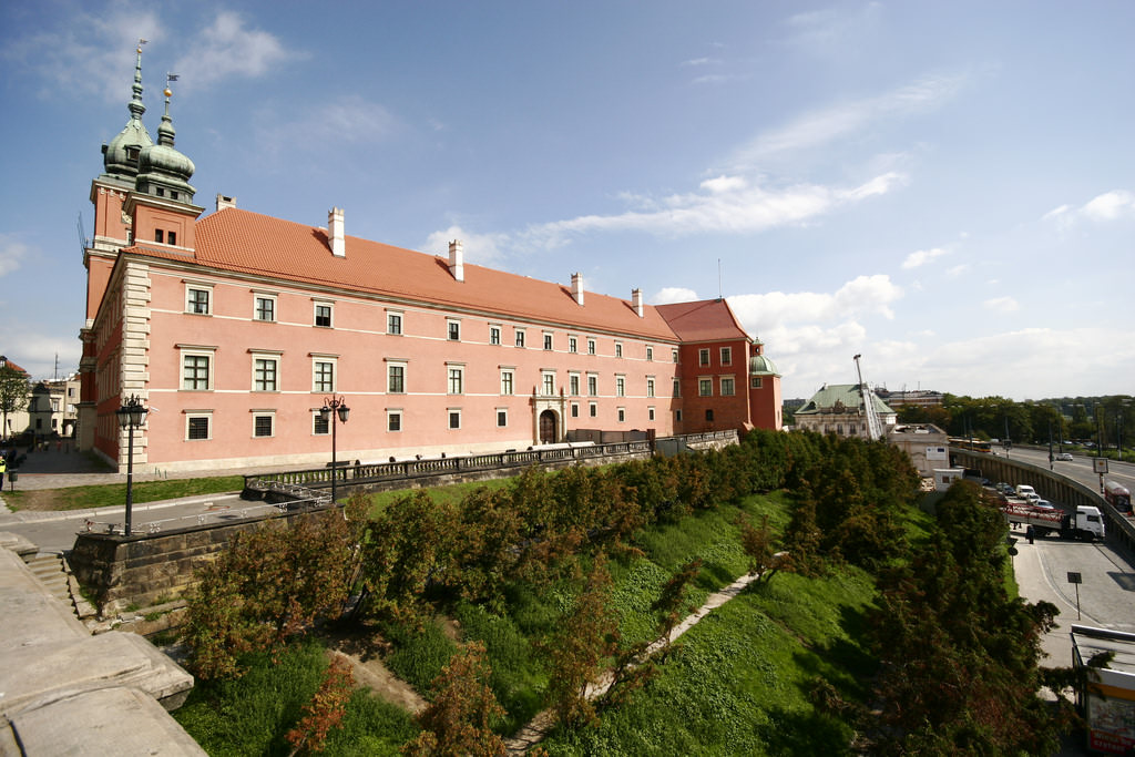
{"type": "Polygon", "coordinates": [[[434,680],[432,701],[418,716],[418,738],[402,748],[413,757],[496,757],[504,741],[493,732],[493,721],[504,716],[488,681],[491,675],[485,646],[473,641],[449,659],[434,680]]]}

